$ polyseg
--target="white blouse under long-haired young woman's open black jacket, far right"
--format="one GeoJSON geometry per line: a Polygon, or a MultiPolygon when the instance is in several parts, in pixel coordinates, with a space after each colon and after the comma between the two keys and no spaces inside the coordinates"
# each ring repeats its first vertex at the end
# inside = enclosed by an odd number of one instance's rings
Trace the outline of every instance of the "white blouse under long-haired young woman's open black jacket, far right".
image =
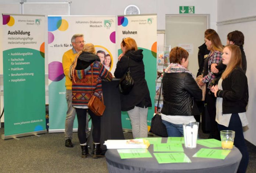
{"type": "MultiPolygon", "coordinates": [[[[219,90],[223,90],[222,89],[222,81],[223,80],[220,78],[220,80],[218,82],[218,89],[219,90]]],[[[223,112],[222,112],[222,101],[223,101],[223,98],[217,97],[215,121],[220,125],[224,125],[225,127],[228,127],[228,125],[230,123],[230,118],[231,118],[232,113],[223,114],[223,112]]],[[[240,117],[240,120],[241,120],[241,123],[242,123],[243,127],[249,124],[248,121],[247,121],[247,118],[246,118],[246,112],[238,113],[238,115],[240,117]]]]}

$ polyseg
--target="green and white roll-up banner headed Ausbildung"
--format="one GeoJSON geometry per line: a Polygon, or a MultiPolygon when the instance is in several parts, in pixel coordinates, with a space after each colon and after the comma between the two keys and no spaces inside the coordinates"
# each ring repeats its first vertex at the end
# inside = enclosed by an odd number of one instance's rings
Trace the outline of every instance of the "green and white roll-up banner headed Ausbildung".
{"type": "Polygon", "coordinates": [[[45,16],[2,16],[2,139],[45,133],[45,16]]]}

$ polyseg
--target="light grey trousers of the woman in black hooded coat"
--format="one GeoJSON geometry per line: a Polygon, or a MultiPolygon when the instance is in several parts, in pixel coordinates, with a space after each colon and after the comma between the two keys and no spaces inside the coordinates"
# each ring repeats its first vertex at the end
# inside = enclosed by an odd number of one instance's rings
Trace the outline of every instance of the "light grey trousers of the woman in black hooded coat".
{"type": "Polygon", "coordinates": [[[128,110],[131,119],[133,138],[147,138],[147,109],[135,106],[128,110]]]}

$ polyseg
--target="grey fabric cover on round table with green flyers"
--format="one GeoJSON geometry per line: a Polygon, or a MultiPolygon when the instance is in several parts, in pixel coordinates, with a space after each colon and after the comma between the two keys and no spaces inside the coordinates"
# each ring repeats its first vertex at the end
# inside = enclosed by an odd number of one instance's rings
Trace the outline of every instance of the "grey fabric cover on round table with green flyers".
{"type": "MultiPolygon", "coordinates": [[[[167,138],[162,138],[162,143],[166,141],[167,138]]],[[[235,173],[242,158],[242,154],[236,147],[224,160],[192,157],[201,148],[208,148],[200,144],[197,144],[195,149],[187,149],[184,145],[183,148],[185,154],[191,159],[191,163],[159,164],[153,155],[153,145],[148,148],[152,158],[121,159],[117,149],[108,149],[107,167],[109,173],[235,173]]],[[[221,149],[221,147],[214,149],[221,149]]]]}

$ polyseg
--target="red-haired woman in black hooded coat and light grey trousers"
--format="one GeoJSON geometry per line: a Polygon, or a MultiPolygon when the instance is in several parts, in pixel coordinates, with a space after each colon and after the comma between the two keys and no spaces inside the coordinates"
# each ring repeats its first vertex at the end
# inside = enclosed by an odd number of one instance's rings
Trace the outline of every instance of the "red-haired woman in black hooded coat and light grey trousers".
{"type": "Polygon", "coordinates": [[[133,38],[124,38],[121,42],[121,53],[118,56],[115,78],[122,78],[130,67],[134,87],[129,94],[120,93],[121,110],[128,111],[134,138],[147,137],[147,109],[152,106],[149,89],[145,80],[142,49],[133,38]]]}

